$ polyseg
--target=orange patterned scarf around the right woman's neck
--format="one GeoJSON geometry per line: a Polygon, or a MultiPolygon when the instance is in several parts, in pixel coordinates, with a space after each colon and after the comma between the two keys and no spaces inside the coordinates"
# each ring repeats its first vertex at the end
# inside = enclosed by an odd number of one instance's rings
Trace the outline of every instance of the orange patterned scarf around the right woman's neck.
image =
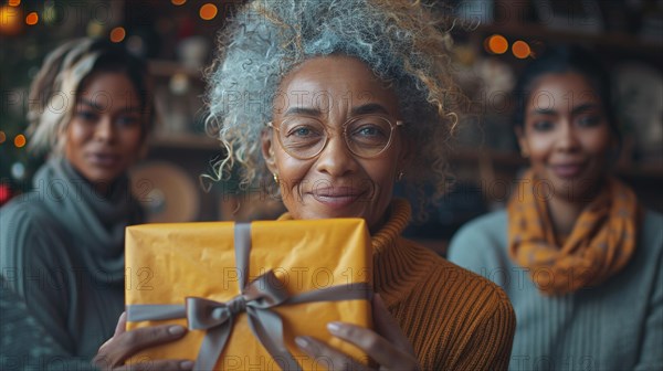
{"type": "MultiPolygon", "coordinates": [[[[524,179],[534,179],[532,171],[524,179]]],[[[539,184],[540,186],[540,184],[539,184]]],[[[635,250],[640,208],[633,191],[611,178],[578,216],[571,234],[558,242],[537,181],[508,202],[508,248],[549,296],[596,286],[625,266],[635,250]]]]}

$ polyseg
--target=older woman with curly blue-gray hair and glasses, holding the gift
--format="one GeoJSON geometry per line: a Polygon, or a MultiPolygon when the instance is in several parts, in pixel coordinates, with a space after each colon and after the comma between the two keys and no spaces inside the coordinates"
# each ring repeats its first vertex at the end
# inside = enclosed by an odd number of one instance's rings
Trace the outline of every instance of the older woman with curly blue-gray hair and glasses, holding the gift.
{"type": "MultiPolygon", "coordinates": [[[[330,333],[380,369],[505,368],[515,326],[505,294],[400,235],[410,205],[392,199],[393,186],[433,182],[441,193],[453,121],[445,35],[427,10],[409,1],[254,1],[220,40],[208,95],[209,123],[228,151],[217,174],[239,167],[244,184],[276,184],[288,211],[282,221],[369,225],[375,330],[332,322],[330,333]]],[[[99,359],[119,365],[182,331],[119,330],[99,359]]],[[[312,337],[295,341],[335,370],[362,369],[312,337]]],[[[191,367],[180,361],[158,365],[191,367]]]]}

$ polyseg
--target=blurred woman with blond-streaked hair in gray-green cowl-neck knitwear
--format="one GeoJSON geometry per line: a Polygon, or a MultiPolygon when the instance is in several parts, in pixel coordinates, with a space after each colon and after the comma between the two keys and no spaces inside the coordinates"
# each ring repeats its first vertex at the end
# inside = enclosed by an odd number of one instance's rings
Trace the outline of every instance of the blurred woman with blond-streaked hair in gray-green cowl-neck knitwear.
{"type": "Polygon", "coordinates": [[[124,308],[124,230],[143,222],[126,172],[151,123],[148,91],[141,60],[91,39],[53,51],[31,86],[31,150],[49,159],[0,210],[0,266],[69,356],[91,359],[124,308]]]}

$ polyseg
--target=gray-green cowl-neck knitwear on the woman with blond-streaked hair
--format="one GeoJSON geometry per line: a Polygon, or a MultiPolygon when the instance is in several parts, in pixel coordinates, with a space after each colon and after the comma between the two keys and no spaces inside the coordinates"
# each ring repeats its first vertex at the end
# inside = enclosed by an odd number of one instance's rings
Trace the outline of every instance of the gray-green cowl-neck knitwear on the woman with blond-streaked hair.
{"type": "Polygon", "coordinates": [[[63,356],[90,360],[124,310],[124,230],[141,212],[126,177],[101,195],[64,160],[45,163],[34,186],[0,209],[3,285],[63,356]]]}

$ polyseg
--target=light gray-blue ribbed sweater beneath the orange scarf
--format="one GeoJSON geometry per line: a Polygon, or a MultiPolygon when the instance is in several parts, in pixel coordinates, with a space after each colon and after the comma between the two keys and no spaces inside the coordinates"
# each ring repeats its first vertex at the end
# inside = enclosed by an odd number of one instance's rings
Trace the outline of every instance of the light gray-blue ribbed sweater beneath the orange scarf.
{"type": "Polygon", "coordinates": [[[449,259],[504,288],[516,311],[511,370],[663,370],[663,215],[646,212],[636,250],[598,287],[545,297],[507,252],[507,213],[463,226],[449,259]]]}

